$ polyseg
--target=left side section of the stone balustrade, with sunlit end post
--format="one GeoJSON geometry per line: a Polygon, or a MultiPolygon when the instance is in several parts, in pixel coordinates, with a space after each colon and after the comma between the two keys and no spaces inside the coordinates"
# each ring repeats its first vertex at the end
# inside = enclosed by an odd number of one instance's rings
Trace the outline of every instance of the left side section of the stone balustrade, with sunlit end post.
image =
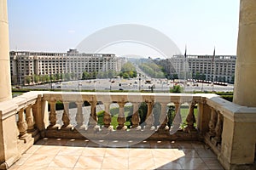
{"type": "Polygon", "coordinates": [[[0,102],[0,169],[6,169],[41,138],[38,129],[38,93],[26,93],[0,102]]]}

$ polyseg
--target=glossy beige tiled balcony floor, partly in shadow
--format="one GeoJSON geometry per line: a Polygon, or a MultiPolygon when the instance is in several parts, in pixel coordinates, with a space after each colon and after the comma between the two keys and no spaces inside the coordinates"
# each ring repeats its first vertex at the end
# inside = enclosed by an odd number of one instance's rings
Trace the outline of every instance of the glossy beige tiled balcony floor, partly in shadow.
{"type": "Polygon", "coordinates": [[[41,139],[9,169],[224,169],[201,142],[41,139]],[[122,145],[123,147],[119,147],[122,145]]]}

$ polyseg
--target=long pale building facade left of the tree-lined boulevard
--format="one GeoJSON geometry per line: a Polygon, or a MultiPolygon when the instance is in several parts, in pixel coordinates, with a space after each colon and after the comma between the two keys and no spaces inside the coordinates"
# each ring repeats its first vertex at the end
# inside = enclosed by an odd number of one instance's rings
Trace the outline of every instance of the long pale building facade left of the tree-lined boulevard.
{"type": "Polygon", "coordinates": [[[76,49],[67,53],[12,51],[10,71],[13,84],[24,84],[32,75],[56,75],[71,73],[81,79],[84,71],[119,71],[115,54],[85,54],[76,49]]]}

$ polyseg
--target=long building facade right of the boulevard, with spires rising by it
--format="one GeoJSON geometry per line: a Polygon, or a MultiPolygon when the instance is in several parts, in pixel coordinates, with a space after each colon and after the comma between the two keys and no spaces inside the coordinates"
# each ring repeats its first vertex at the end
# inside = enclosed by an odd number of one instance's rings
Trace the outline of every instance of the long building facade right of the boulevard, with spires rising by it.
{"type": "Polygon", "coordinates": [[[170,75],[178,78],[200,78],[216,82],[234,82],[235,55],[173,55],[166,59],[164,67],[170,75]],[[171,66],[170,66],[171,65],[171,66]]]}

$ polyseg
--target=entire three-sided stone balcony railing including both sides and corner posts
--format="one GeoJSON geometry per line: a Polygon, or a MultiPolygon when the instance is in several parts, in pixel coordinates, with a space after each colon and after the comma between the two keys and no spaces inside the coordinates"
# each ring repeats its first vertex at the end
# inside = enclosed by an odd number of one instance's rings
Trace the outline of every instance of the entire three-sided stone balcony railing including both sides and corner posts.
{"type": "Polygon", "coordinates": [[[256,108],[235,105],[216,94],[29,92],[0,103],[0,118],[3,169],[44,137],[201,140],[227,169],[253,164],[255,157],[256,108]],[[63,111],[56,111],[57,102],[64,105],[63,111]],[[84,111],[84,102],[90,104],[89,110],[84,111]],[[147,105],[144,122],[138,110],[143,102],[147,105]],[[113,104],[119,107],[117,127],[112,126],[113,104]],[[160,105],[157,113],[156,104],[160,105]],[[99,105],[104,111],[102,125],[96,114],[99,105]],[[131,127],[125,126],[125,105],[132,107],[131,127]],[[170,127],[168,105],[175,108],[170,127]],[[182,105],[188,107],[186,117],[181,116],[182,105]]]}

